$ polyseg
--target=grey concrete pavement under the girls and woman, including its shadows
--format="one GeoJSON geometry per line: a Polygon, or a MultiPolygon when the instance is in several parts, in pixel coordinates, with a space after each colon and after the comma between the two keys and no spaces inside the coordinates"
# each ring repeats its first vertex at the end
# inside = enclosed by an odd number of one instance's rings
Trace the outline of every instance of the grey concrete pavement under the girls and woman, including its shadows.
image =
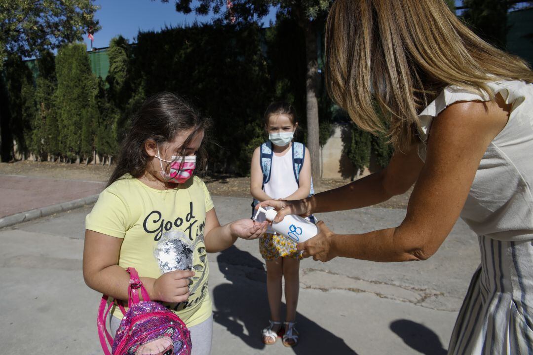
{"type": "MultiPolygon", "coordinates": [[[[248,217],[248,199],[213,197],[222,223],[248,217]]],[[[100,354],[100,294],[83,282],[81,208],[0,230],[2,352],[100,354]]],[[[397,225],[405,210],[366,208],[318,216],[337,233],[397,225]]],[[[306,259],[301,343],[265,346],[265,271],[256,241],[210,254],[212,354],[445,354],[461,299],[479,264],[477,238],[459,221],[432,258],[413,263],[306,259]]]]}

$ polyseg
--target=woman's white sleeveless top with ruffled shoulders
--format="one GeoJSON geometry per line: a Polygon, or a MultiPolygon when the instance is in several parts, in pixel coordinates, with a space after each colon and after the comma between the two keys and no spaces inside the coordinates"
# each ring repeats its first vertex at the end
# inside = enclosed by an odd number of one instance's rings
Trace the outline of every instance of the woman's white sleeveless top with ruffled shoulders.
{"type": "MultiPolygon", "coordinates": [[[[479,164],[461,218],[478,235],[500,241],[533,238],[533,84],[513,80],[491,82],[489,88],[512,104],[505,128],[490,142],[479,164]]],[[[434,117],[456,101],[489,101],[450,86],[419,115],[422,139],[418,154],[425,161],[434,117]]]]}

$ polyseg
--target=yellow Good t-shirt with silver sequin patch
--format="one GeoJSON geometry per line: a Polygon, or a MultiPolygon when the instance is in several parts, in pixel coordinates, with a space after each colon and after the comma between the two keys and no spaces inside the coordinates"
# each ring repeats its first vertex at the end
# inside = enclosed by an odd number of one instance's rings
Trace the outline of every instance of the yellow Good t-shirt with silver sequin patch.
{"type": "MultiPolygon", "coordinates": [[[[179,188],[158,190],[125,175],[100,194],[85,228],[123,238],[118,265],[134,267],[139,276],[158,278],[167,271],[192,268],[196,275],[189,299],[164,303],[191,327],[212,313],[204,243],[205,216],[211,209],[211,196],[196,176],[179,188]]],[[[118,308],[112,314],[122,319],[118,308]]]]}

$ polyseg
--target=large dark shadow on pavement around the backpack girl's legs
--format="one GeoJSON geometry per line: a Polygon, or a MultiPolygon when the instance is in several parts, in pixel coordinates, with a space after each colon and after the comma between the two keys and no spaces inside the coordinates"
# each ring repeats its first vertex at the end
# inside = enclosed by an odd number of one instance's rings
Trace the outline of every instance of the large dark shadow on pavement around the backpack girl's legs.
{"type": "MultiPolygon", "coordinates": [[[[268,325],[270,312],[263,261],[236,246],[231,246],[219,254],[217,262],[220,271],[232,284],[214,288],[214,320],[226,327],[231,334],[240,337],[251,348],[264,349],[267,345],[261,341],[261,330],[268,325]]],[[[295,354],[356,353],[343,339],[301,313],[297,313],[296,321],[301,337],[298,345],[293,348],[295,354]]],[[[268,346],[283,348],[280,339],[276,344],[268,346]]]]}

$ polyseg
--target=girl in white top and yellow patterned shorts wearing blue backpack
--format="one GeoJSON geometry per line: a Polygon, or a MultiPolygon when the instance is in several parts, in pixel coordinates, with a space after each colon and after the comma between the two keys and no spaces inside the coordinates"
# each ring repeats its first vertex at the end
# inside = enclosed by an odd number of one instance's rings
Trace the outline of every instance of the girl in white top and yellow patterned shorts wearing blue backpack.
{"type": "MultiPolygon", "coordinates": [[[[310,155],[302,144],[293,144],[294,132],[298,127],[293,106],[285,102],[272,103],[266,109],[264,119],[270,142],[254,151],[250,186],[252,196],[260,202],[271,199],[298,200],[309,196],[311,161],[305,157],[310,155]],[[294,156],[298,154],[293,150],[302,149],[303,162],[299,162],[301,169],[298,176],[294,168],[294,156]],[[264,167],[262,159],[266,159],[264,167]],[[269,174],[268,171],[263,172],[263,169],[270,171],[268,179],[263,179],[264,174],[269,174]]],[[[271,312],[270,324],[262,332],[263,342],[273,344],[281,331],[281,279],[285,278],[287,314],[282,342],[285,346],[294,346],[298,342],[294,322],[300,289],[298,273],[301,254],[296,250],[294,242],[274,233],[273,230],[267,230],[260,238],[259,249],[266,262],[266,288],[271,312]]]]}

